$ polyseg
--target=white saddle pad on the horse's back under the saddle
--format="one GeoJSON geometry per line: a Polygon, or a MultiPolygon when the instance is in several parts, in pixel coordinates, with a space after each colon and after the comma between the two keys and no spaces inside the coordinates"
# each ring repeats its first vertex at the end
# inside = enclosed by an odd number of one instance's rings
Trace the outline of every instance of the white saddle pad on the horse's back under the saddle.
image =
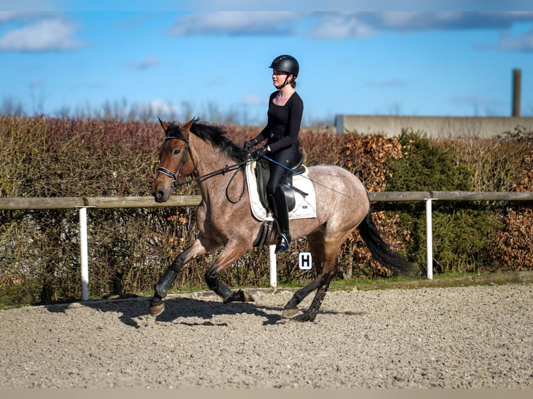
{"type": "MultiPolygon", "coordinates": [[[[317,217],[317,202],[315,199],[315,188],[312,181],[307,177],[308,169],[302,174],[294,174],[292,176],[292,185],[303,193],[308,195],[301,195],[298,191],[294,191],[294,199],[296,205],[294,209],[289,212],[289,220],[292,219],[308,219],[317,217]]],[[[259,198],[257,192],[257,180],[255,179],[255,161],[246,165],[246,182],[248,184],[248,195],[250,195],[250,208],[257,220],[274,220],[273,215],[268,211],[259,198]]]]}

